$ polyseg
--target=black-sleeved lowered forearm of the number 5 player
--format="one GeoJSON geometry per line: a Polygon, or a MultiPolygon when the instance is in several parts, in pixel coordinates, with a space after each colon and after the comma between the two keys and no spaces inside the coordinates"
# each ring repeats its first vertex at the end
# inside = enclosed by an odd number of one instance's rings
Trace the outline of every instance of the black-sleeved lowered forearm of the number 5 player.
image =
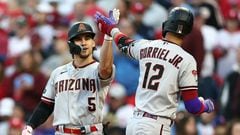
{"type": "Polygon", "coordinates": [[[54,105],[49,105],[41,101],[34,110],[27,125],[31,126],[33,129],[37,128],[39,125],[41,125],[47,120],[47,118],[53,112],[53,108],[54,105]]]}

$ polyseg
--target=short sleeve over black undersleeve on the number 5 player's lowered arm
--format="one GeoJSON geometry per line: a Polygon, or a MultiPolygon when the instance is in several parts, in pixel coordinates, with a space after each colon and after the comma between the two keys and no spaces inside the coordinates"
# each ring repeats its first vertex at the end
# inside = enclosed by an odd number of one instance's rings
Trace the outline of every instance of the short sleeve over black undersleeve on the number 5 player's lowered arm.
{"type": "Polygon", "coordinates": [[[41,100],[48,104],[54,104],[55,86],[54,86],[55,72],[53,71],[42,93],[41,100]]]}

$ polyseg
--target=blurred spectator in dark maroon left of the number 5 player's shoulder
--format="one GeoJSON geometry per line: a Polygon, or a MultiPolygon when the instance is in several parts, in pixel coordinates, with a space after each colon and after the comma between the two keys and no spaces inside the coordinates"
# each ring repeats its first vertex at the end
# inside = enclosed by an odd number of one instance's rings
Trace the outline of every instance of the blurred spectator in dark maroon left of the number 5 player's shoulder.
{"type": "Polygon", "coordinates": [[[17,60],[16,71],[7,79],[5,92],[26,111],[26,118],[40,101],[46,77],[40,72],[34,52],[24,52],[17,60]]]}

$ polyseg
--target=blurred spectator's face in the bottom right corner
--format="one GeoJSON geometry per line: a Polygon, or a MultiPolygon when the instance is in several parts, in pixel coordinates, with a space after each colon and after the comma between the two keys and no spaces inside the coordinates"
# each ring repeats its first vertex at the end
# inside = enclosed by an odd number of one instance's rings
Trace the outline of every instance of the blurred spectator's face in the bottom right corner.
{"type": "Polygon", "coordinates": [[[232,119],[229,122],[227,135],[240,135],[240,119],[232,119]]]}

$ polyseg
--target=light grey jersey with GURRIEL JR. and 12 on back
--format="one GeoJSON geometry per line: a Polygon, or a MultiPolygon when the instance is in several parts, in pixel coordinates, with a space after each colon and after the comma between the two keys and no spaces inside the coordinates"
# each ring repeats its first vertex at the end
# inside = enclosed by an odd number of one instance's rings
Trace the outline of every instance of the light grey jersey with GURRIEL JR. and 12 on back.
{"type": "Polygon", "coordinates": [[[140,65],[136,107],[174,119],[179,92],[197,88],[195,59],[180,46],[163,40],[135,41],[128,55],[140,65]]]}

